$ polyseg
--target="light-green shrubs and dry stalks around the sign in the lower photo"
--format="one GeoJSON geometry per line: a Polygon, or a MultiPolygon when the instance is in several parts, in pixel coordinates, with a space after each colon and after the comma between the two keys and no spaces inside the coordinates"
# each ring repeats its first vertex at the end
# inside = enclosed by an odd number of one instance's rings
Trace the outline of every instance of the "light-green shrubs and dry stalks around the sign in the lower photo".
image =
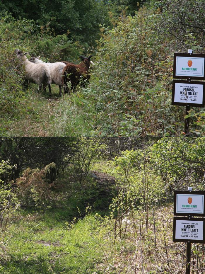
{"type": "MultiPolygon", "coordinates": [[[[103,245],[113,273],[184,273],[185,244],[172,242],[173,190],[205,190],[204,138],[162,138],[110,161],[117,195],[103,245]]],[[[192,244],[191,269],[204,271],[204,244],[192,244]]]]}

